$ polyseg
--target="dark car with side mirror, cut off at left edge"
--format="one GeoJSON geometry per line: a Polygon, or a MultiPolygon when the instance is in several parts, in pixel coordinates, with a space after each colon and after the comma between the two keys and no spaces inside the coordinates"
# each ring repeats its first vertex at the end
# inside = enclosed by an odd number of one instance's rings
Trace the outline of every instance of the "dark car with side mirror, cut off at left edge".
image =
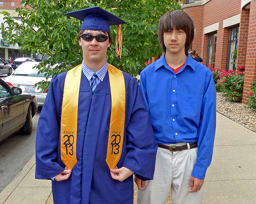
{"type": "Polygon", "coordinates": [[[36,97],[21,94],[19,87],[10,87],[0,78],[0,141],[17,130],[21,134],[32,132],[32,118],[37,113],[36,97]]]}

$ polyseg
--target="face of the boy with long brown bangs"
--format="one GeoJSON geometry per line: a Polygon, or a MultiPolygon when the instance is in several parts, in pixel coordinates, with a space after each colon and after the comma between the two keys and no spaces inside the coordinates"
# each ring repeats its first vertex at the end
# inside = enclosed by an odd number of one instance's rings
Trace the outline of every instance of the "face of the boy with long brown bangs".
{"type": "Polygon", "coordinates": [[[163,33],[163,42],[168,54],[185,54],[186,33],[183,30],[172,30],[163,33]]]}

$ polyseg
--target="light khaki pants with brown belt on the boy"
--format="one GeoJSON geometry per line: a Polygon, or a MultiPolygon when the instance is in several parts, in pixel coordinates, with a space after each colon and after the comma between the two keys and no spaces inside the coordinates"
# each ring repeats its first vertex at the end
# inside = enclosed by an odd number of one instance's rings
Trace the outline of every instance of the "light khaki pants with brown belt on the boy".
{"type": "Polygon", "coordinates": [[[145,190],[138,190],[137,204],[166,204],[170,189],[173,204],[201,204],[204,185],[200,191],[188,191],[196,161],[197,148],[176,152],[158,148],[154,180],[146,181],[145,190]]]}

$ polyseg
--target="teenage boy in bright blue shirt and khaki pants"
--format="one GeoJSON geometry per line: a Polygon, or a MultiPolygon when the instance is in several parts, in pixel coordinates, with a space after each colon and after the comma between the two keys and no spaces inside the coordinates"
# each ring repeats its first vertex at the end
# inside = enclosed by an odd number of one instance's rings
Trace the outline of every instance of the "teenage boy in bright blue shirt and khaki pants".
{"type": "Polygon", "coordinates": [[[135,177],[137,204],[200,204],[211,163],[216,90],[211,71],[188,55],[193,20],[180,10],[165,13],[158,38],[165,54],[141,72],[140,87],[158,143],[154,180],[135,177]]]}

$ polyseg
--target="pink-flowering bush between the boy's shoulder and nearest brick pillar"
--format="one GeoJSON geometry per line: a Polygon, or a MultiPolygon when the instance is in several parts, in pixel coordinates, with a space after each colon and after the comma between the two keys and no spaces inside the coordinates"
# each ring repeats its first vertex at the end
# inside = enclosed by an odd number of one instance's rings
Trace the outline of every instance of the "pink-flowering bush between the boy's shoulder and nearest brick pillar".
{"type": "Polygon", "coordinates": [[[226,96],[226,100],[241,102],[243,97],[244,73],[241,71],[221,71],[217,86],[226,96]]]}

